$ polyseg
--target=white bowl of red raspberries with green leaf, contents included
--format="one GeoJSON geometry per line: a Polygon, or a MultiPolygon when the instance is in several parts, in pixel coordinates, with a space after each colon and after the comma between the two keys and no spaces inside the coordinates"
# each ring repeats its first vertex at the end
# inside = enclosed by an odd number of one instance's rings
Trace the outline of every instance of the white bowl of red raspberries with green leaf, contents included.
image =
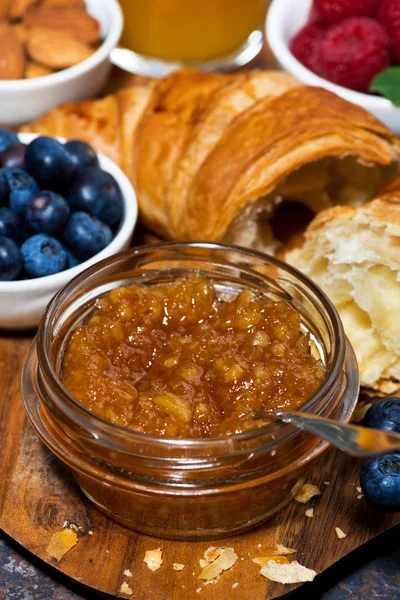
{"type": "Polygon", "coordinates": [[[273,0],[266,34],[293,77],[400,133],[400,0],[273,0]]]}

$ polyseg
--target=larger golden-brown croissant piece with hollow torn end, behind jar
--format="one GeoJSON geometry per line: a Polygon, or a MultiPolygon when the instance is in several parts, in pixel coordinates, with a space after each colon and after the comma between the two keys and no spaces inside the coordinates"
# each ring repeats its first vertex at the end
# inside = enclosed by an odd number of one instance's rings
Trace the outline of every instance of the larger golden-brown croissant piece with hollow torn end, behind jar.
{"type": "Polygon", "coordinates": [[[397,173],[400,141],[363,109],[278,71],[190,69],[23,128],[118,162],[142,222],[171,239],[276,251],[319,211],[360,205],[397,173]]]}

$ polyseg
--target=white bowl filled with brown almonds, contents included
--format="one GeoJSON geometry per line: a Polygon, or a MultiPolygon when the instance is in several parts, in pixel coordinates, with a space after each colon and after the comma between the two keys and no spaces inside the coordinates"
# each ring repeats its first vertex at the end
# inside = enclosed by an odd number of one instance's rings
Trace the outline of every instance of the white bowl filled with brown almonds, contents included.
{"type": "Polygon", "coordinates": [[[0,122],[16,126],[94,97],[123,27],[117,0],[9,0],[0,6],[0,122]]]}

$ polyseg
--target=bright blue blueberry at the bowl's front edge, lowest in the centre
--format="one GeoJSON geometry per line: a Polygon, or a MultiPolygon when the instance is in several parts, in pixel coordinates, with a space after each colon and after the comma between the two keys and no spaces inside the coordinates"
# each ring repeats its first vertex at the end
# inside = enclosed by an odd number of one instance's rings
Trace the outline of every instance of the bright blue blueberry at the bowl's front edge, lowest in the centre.
{"type": "Polygon", "coordinates": [[[21,246],[25,272],[30,277],[46,277],[64,271],[67,252],[55,238],[39,233],[21,246]]]}

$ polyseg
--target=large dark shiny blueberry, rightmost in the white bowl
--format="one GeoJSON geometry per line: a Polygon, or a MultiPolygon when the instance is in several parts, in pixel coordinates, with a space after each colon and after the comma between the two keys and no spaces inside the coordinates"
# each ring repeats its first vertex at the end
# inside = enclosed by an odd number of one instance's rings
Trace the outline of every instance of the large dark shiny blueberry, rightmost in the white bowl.
{"type": "Polygon", "coordinates": [[[118,183],[110,173],[100,169],[84,169],[71,185],[67,200],[72,210],[82,210],[107,225],[120,221],[123,200],[118,183]]]}

